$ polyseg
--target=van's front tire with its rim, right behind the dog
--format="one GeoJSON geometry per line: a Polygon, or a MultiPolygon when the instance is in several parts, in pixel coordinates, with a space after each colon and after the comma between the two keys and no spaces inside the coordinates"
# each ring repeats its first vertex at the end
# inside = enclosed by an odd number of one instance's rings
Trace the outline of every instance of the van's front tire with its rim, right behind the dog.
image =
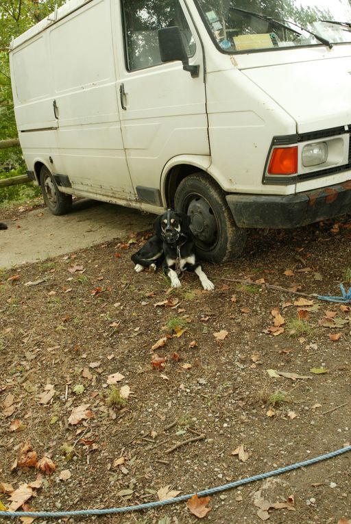
{"type": "Polygon", "coordinates": [[[246,229],[237,227],[223,191],[203,173],[180,182],[174,197],[175,210],[189,214],[199,258],[226,262],[243,252],[246,229]]]}

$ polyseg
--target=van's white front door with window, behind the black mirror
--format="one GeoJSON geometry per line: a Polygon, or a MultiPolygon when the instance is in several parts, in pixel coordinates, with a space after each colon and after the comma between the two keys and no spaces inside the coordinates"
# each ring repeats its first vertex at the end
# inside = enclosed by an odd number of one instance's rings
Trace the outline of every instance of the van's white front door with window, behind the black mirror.
{"type": "Polygon", "coordinates": [[[120,0],[117,23],[119,104],[126,158],[141,201],[162,202],[160,177],[170,159],[209,155],[202,45],[182,0],[120,0]],[[178,26],[190,64],[162,63],[158,29],[178,26]]]}

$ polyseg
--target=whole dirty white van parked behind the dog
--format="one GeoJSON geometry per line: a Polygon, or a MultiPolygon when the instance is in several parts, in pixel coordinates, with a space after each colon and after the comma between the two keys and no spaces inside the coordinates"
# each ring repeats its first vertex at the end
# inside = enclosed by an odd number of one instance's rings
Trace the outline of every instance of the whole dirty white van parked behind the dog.
{"type": "Polygon", "coordinates": [[[199,254],[351,211],[349,0],[70,0],[10,49],[29,176],[191,216],[199,254]]]}

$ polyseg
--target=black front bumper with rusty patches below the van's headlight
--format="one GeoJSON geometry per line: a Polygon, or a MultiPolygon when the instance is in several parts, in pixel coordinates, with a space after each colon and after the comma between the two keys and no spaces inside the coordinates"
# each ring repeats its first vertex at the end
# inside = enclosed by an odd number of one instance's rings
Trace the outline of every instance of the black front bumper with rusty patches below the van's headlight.
{"type": "Polygon", "coordinates": [[[351,213],[351,180],[294,195],[227,195],[238,227],[285,229],[351,213]]]}

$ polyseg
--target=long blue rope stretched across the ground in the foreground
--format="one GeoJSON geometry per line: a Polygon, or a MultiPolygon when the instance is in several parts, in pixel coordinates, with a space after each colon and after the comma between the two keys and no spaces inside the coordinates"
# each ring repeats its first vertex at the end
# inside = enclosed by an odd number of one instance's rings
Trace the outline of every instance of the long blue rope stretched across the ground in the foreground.
{"type": "MultiPolygon", "coordinates": [[[[230,484],[224,484],[224,486],[217,486],[216,488],[210,488],[208,490],[197,492],[198,497],[204,497],[204,495],[213,495],[213,493],[219,493],[230,488],[237,488],[237,486],[242,486],[243,484],[249,484],[256,480],[267,479],[267,477],[273,477],[274,475],[280,475],[286,471],[292,471],[293,469],[302,468],[303,466],[309,466],[310,464],[315,464],[321,460],[326,460],[328,458],[337,457],[342,453],[351,451],[351,446],[343,447],[342,449],[337,449],[337,451],[330,451],[326,455],[320,455],[319,457],[310,458],[309,460],[304,460],[304,462],[297,462],[296,464],[291,464],[290,466],[285,466],[284,468],[274,469],[273,471],[268,471],[267,473],[261,473],[260,475],[254,475],[253,477],[247,477],[245,479],[237,480],[236,482],[230,482],[230,484]]],[[[62,516],[80,516],[80,515],[107,515],[111,513],[126,513],[130,511],[141,511],[149,510],[150,508],[158,508],[160,506],[165,506],[166,504],[173,504],[175,502],[182,502],[185,500],[191,499],[195,493],[190,495],[181,495],[180,497],[175,497],[174,499],[167,499],[156,502],[147,502],[144,504],[139,504],[138,506],[125,506],[124,508],[110,508],[106,510],[76,510],[76,511],[0,511],[0,516],[32,516],[32,517],[45,517],[45,518],[59,518],[62,516]]]]}

